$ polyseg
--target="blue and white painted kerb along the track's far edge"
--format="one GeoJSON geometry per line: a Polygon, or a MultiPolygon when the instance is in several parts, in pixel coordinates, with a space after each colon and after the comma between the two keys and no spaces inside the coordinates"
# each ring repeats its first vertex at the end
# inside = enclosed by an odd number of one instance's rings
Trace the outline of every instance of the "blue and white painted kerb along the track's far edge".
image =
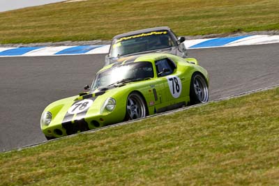
{"type": "MultiPolygon", "coordinates": [[[[235,47],[242,45],[263,45],[279,42],[279,36],[236,36],[227,38],[210,38],[186,40],[187,49],[211,47],[235,47]]],[[[82,45],[61,47],[0,47],[0,56],[59,56],[81,54],[107,54],[110,45],[82,45]]]]}

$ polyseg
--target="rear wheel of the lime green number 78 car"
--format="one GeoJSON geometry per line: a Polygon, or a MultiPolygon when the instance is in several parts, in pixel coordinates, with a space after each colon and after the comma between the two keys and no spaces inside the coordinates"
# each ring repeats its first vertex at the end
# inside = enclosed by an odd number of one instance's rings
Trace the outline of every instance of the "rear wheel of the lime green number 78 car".
{"type": "Polygon", "coordinates": [[[190,104],[209,101],[209,86],[206,79],[199,73],[194,73],[190,82],[190,104]]]}

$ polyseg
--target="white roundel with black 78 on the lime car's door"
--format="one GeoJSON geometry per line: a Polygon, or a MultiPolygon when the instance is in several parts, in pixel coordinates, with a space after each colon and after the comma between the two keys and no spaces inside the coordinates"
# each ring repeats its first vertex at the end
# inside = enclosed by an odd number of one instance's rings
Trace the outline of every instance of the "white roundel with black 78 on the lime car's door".
{"type": "Polygon", "coordinates": [[[182,91],[181,79],[176,75],[167,76],[167,84],[172,97],[179,98],[182,91]]]}

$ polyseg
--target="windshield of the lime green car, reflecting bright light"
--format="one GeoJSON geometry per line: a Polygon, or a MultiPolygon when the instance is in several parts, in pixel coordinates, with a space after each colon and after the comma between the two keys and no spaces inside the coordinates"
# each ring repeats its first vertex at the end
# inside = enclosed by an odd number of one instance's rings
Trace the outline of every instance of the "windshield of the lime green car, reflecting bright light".
{"type": "Polygon", "coordinates": [[[139,81],[153,76],[153,66],[150,62],[142,61],[116,65],[116,67],[98,73],[91,90],[124,82],[139,81]]]}

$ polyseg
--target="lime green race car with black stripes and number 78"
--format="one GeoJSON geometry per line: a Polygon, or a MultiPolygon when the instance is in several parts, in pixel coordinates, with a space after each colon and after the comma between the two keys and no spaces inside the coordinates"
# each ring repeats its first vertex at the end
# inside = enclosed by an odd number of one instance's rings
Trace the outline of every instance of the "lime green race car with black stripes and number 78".
{"type": "Polygon", "coordinates": [[[48,105],[40,119],[47,139],[209,100],[209,75],[193,58],[129,56],[101,69],[89,89],[48,105]]]}

